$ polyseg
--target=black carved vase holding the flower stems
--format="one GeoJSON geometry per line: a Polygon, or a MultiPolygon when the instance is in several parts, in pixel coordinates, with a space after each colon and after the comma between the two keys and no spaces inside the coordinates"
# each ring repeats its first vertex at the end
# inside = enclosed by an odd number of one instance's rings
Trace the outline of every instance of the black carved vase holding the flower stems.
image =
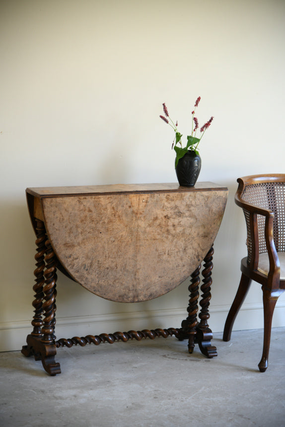
{"type": "Polygon", "coordinates": [[[188,151],[178,160],[175,168],[179,185],[194,187],[201,170],[201,157],[195,151],[188,151]]]}

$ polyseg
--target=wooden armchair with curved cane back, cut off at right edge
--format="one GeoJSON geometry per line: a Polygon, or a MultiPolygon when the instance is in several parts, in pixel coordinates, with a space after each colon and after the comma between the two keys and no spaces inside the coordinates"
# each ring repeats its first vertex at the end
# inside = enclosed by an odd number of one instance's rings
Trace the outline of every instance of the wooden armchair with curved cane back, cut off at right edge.
{"type": "Polygon", "coordinates": [[[247,257],[241,260],[240,284],[227,315],[223,340],[229,341],[236,315],[251,281],[262,285],[264,341],[261,372],[268,367],[272,316],[285,291],[285,175],[239,178],[235,203],[243,209],[247,226],[247,257]]]}

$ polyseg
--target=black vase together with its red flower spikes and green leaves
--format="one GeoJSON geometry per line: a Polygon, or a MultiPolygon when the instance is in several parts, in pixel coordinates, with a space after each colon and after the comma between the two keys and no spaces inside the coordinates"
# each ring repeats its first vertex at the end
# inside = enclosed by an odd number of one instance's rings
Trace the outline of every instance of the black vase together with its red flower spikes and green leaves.
{"type": "Polygon", "coordinates": [[[201,141],[206,129],[212,123],[214,117],[206,122],[200,129],[198,119],[195,117],[195,111],[198,107],[201,97],[199,96],[195,102],[194,110],[192,111],[192,131],[191,135],[187,136],[187,144],[185,147],[182,145],[182,134],[178,132],[176,124],[171,120],[168,114],[165,103],[162,104],[165,116],[159,116],[165,123],[169,124],[175,132],[175,138],[172,143],[172,148],[176,152],[175,158],[175,171],[178,182],[182,186],[193,187],[198,179],[201,170],[201,157],[198,151],[198,145],[201,141]],[[197,130],[200,130],[200,138],[196,136],[197,130]]]}

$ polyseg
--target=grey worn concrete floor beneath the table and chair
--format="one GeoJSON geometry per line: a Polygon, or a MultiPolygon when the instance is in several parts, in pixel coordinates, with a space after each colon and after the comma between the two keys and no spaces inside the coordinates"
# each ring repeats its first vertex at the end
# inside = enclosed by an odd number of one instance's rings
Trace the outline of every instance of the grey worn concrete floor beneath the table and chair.
{"type": "Polygon", "coordinates": [[[214,334],[212,360],[173,337],[62,348],[54,377],[20,352],[0,353],[0,426],[285,426],[285,328],[272,330],[265,373],[262,337],[214,334]]]}

